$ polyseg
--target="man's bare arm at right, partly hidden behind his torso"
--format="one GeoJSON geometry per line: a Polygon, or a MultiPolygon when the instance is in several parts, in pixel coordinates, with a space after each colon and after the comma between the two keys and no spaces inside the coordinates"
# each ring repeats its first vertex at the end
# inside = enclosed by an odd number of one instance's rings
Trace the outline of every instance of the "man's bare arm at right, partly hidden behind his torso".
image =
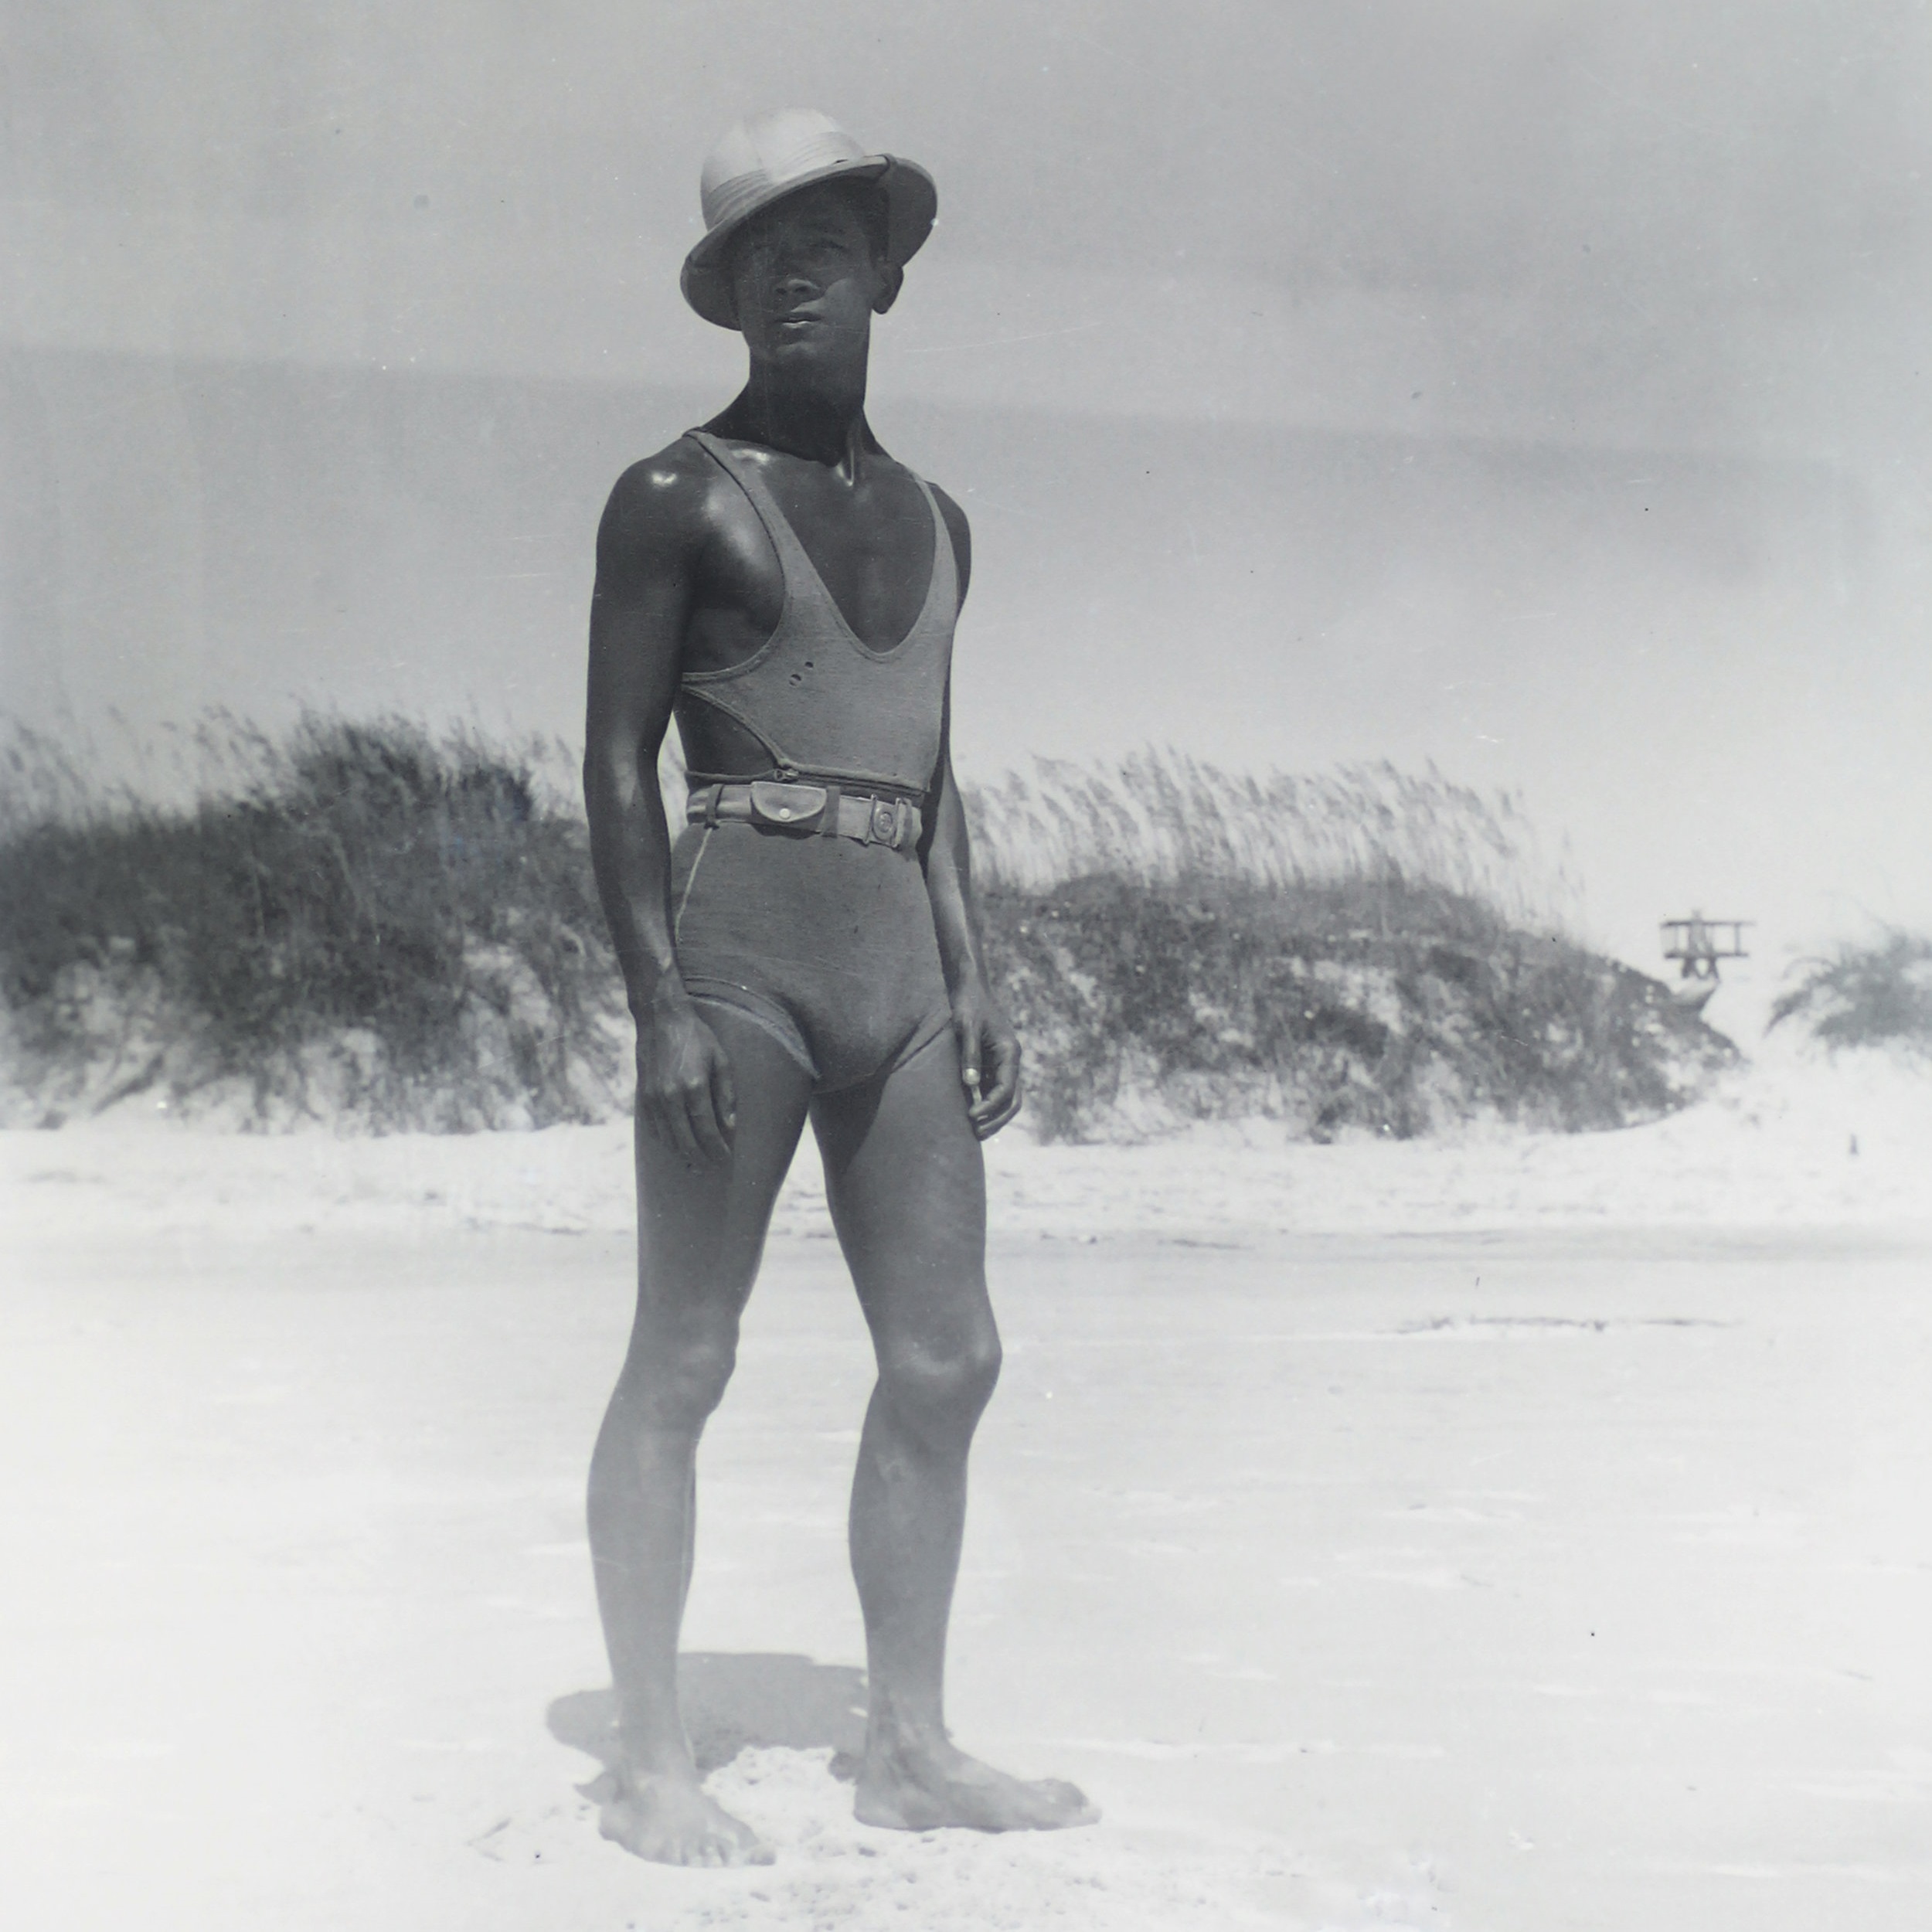
{"type": "MultiPolygon", "coordinates": [[[[943,491],[939,508],[952,539],[958,564],[960,603],[972,572],[972,535],[966,516],[943,491]]],[[[985,941],[980,935],[980,908],[972,893],[972,840],[966,808],[952,777],[952,680],[939,721],[939,765],[927,794],[931,825],[923,840],[925,896],[933,904],[933,931],[939,935],[939,962],[952,1001],[952,1032],[960,1047],[960,1078],[966,1082],[966,1115],[972,1130],[987,1140],[1020,1111],[1020,1036],[1014,1034],[985,972],[985,941]]]]}

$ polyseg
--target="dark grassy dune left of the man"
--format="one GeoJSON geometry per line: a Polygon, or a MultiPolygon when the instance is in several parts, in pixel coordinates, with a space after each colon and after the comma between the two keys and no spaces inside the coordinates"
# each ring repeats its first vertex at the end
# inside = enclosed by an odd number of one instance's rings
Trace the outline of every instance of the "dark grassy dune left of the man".
{"type": "Polygon", "coordinates": [[[541,746],[311,713],[282,740],[211,719],[201,748],[218,782],[176,808],[8,748],[0,995],[31,1084],[383,1126],[599,1111],[611,954],[541,746]]]}

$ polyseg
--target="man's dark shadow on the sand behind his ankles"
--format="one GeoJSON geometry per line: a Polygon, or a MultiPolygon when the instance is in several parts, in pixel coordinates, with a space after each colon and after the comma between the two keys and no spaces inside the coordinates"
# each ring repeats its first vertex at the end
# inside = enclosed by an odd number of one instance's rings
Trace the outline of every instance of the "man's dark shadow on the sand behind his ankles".
{"type": "MultiPolygon", "coordinates": [[[[813,1663],[782,1652],[688,1650],[678,1658],[678,1700],[699,1774],[730,1764],[755,1745],[833,1748],[833,1777],[858,1776],[866,1747],[866,1673],[850,1663],[813,1663]]],[[[616,1762],[616,1694],[572,1690],[545,1714],[551,1737],[616,1762]]]]}

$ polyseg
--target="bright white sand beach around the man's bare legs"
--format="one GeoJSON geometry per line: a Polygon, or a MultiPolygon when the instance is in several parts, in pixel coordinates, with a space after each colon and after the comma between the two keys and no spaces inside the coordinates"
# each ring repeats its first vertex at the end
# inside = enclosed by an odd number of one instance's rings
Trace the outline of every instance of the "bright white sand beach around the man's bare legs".
{"type": "Polygon", "coordinates": [[[850,1818],[867,1352],[810,1167],[686,1629],[779,1861],[686,1874],[578,1791],[624,1130],[0,1136],[6,1924],[1932,1922],[1922,1072],[1781,1049],[1602,1136],[995,1142],[951,1714],[1101,1803],[1043,1839],[850,1818]]]}

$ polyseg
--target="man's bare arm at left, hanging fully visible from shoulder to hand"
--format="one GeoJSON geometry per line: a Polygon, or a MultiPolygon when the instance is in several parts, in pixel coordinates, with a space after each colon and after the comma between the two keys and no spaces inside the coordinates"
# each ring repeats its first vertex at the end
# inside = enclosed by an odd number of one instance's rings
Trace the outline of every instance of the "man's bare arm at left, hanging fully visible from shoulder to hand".
{"type": "Polygon", "coordinates": [[[591,867],[638,1022],[639,1113],[686,1157],[730,1153],[730,1065],[678,980],[670,829],[657,753],[709,535],[705,487],[676,450],[624,471],[597,527],[583,802],[591,867]]]}

